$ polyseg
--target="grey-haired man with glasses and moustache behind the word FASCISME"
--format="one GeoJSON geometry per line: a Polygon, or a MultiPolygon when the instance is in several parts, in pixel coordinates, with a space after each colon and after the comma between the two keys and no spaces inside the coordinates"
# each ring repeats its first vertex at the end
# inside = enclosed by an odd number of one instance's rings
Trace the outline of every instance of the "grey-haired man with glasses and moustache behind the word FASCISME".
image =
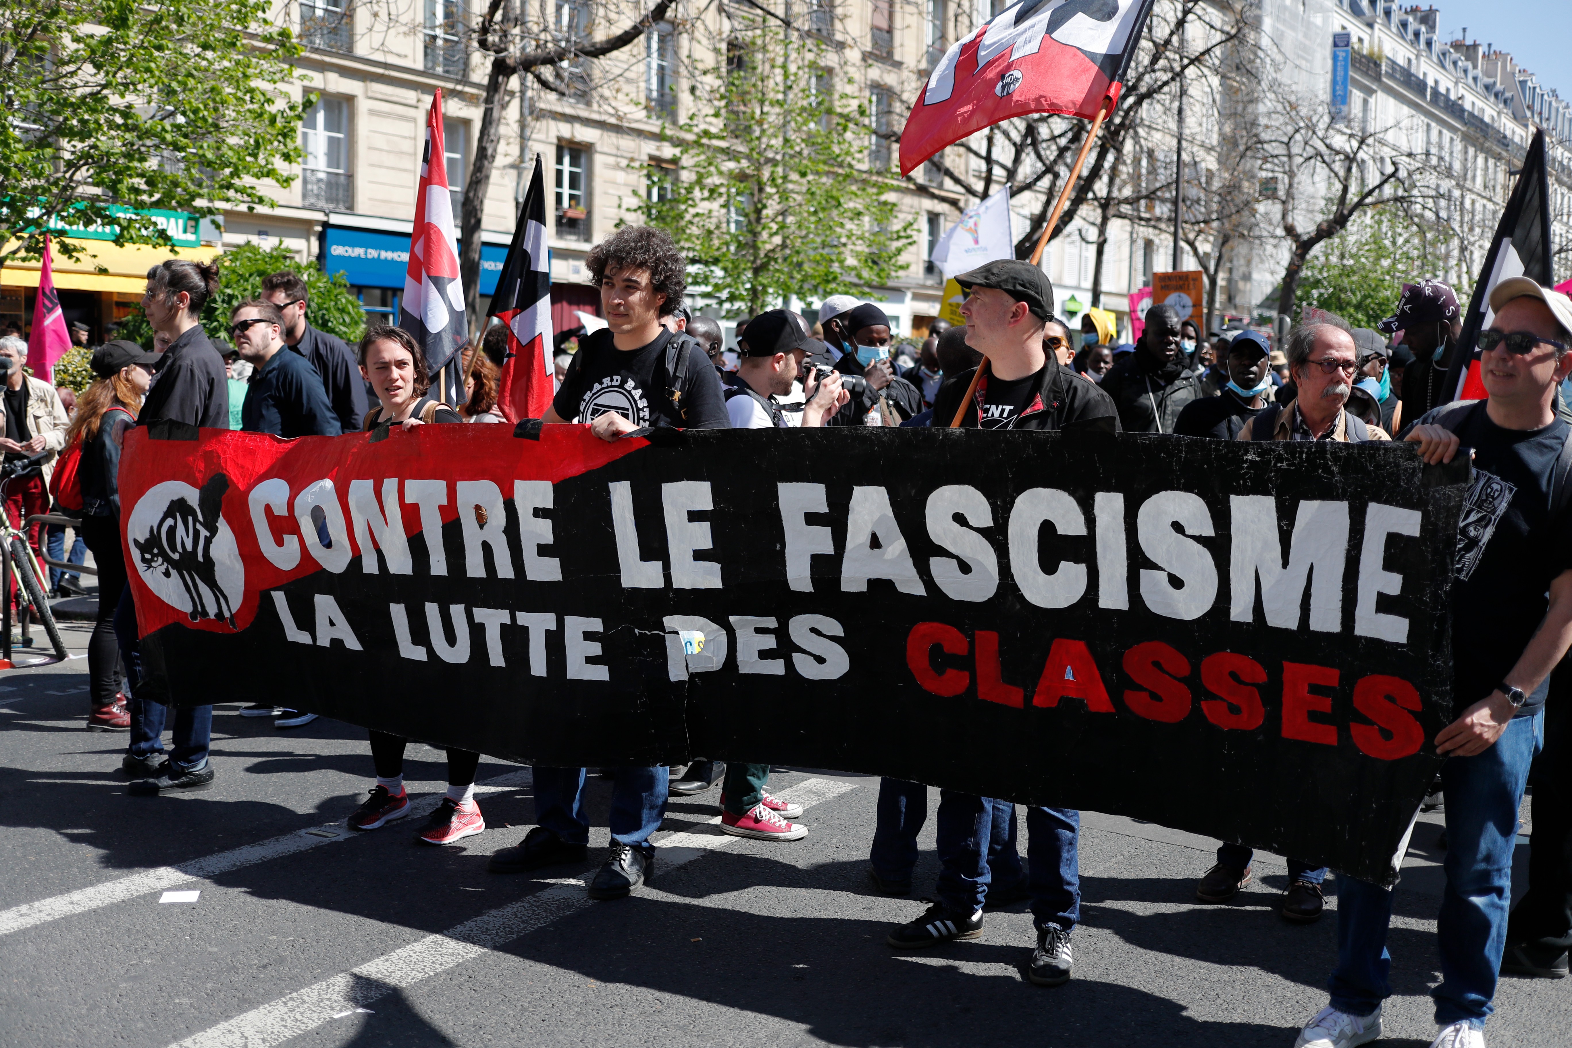
{"type": "Polygon", "coordinates": [[[1294,399],[1272,404],[1245,423],[1239,440],[1391,440],[1379,426],[1342,410],[1360,369],[1353,328],[1342,317],[1302,324],[1284,343],[1294,399]]]}

